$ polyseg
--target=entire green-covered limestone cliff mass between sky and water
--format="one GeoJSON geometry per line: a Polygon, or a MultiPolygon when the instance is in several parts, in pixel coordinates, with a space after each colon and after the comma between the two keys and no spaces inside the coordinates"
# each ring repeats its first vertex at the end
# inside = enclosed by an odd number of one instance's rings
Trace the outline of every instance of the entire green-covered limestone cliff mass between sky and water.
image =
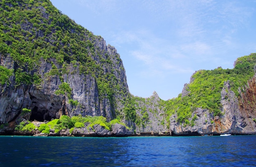
{"type": "Polygon", "coordinates": [[[256,54],[167,101],[130,94],[117,50],[49,0],[0,0],[0,134],[256,134],[256,54]]]}

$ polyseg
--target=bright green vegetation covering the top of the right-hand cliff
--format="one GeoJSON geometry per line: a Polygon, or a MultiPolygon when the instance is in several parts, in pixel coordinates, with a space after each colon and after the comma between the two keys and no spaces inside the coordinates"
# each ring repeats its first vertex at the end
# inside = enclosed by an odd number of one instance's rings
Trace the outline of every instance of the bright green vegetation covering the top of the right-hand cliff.
{"type": "Polygon", "coordinates": [[[234,69],[222,69],[196,71],[192,76],[192,82],[187,85],[188,94],[182,97],[163,102],[166,107],[166,120],[177,113],[177,121],[188,123],[191,114],[196,108],[208,109],[214,116],[221,113],[220,92],[224,82],[229,81],[230,88],[239,97],[238,88],[243,88],[249,79],[254,76],[256,65],[256,53],[243,56],[236,60],[234,69]]]}

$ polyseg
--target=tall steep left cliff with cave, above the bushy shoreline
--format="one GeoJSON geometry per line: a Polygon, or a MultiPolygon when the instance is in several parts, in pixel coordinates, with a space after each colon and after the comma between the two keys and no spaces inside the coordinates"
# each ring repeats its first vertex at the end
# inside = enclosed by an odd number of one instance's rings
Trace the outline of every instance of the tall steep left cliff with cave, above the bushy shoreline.
{"type": "Polygon", "coordinates": [[[0,124],[17,122],[24,108],[28,120],[116,118],[130,93],[114,47],[49,0],[0,1],[0,15],[0,124]]]}

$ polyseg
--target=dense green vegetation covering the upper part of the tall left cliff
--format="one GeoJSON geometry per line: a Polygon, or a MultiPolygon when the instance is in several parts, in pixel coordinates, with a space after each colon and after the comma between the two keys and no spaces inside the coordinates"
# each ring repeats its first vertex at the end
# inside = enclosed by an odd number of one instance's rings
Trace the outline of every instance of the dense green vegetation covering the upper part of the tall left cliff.
{"type": "MultiPolygon", "coordinates": [[[[52,62],[52,69],[45,76],[58,76],[63,84],[67,82],[63,75],[69,65],[78,67],[80,74],[93,76],[100,99],[108,98],[113,106],[115,94],[128,93],[112,68],[114,63],[120,64],[119,54],[114,62],[106,50],[99,49],[103,38],[76,24],[49,0],[1,0],[0,37],[1,55],[11,56],[16,63],[14,71],[0,67],[1,85],[9,85],[13,75],[16,86],[40,87],[43,76],[37,69],[44,60],[52,62]]],[[[70,91],[63,92],[61,88],[56,92],[64,93],[70,95],[70,91]]]]}

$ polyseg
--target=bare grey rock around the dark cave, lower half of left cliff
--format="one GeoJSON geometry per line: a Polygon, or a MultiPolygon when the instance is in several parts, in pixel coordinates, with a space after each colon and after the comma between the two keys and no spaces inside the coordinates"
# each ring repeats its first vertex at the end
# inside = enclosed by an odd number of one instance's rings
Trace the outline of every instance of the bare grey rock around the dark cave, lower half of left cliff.
{"type": "MultiPolygon", "coordinates": [[[[10,60],[10,57],[1,57],[1,65],[6,64],[6,60],[10,60]]],[[[14,62],[9,62],[14,64],[14,62]]],[[[122,64],[120,64],[122,65],[122,64]]],[[[65,96],[57,96],[55,91],[58,90],[58,86],[61,85],[60,77],[58,76],[45,76],[45,73],[51,70],[51,63],[42,60],[38,73],[41,74],[43,82],[40,88],[35,85],[20,85],[16,87],[13,85],[0,85],[0,122],[5,123],[15,119],[21,114],[22,108],[31,109],[30,120],[51,120],[52,118],[59,118],[61,115],[79,115],[83,116],[104,116],[108,119],[115,118],[114,104],[110,104],[108,98],[99,96],[99,90],[97,87],[97,81],[94,77],[87,75],[80,75],[79,71],[72,65],[69,66],[70,72],[63,75],[64,80],[70,85],[72,89],[72,99],[79,102],[79,106],[74,106],[68,103],[68,99],[65,96]],[[74,71],[76,71],[74,73],[74,71]]],[[[16,69],[10,67],[10,69],[16,69]]],[[[123,76],[117,76],[119,81],[126,81],[125,72],[123,76]]],[[[15,83],[14,78],[11,80],[15,83]]],[[[128,91],[128,86],[125,84],[124,89],[128,91]]],[[[114,95],[118,100],[120,95],[114,95]]]]}

